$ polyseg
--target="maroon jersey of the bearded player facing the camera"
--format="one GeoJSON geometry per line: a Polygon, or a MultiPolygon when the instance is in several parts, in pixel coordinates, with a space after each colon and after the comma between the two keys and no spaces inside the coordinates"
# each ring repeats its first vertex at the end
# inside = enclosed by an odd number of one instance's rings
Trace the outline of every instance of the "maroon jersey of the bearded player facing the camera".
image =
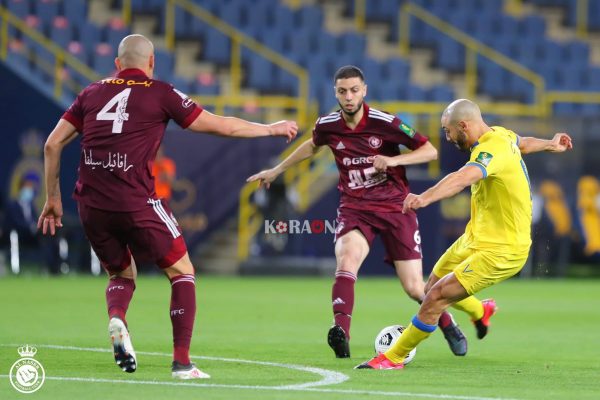
{"type": "Polygon", "coordinates": [[[398,145],[415,150],[427,140],[397,117],[366,103],[355,129],[350,129],[341,111],[336,111],[319,118],[313,130],[314,144],[329,146],[335,156],[340,174],[340,207],[365,211],[401,211],[410,192],[403,166],[377,172],[373,156],[397,156],[398,145]]]}

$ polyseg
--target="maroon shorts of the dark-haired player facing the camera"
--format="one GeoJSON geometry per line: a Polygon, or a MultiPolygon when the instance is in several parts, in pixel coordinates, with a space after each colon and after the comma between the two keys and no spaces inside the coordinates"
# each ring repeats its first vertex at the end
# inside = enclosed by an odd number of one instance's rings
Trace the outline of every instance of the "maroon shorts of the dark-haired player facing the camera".
{"type": "Polygon", "coordinates": [[[369,247],[377,234],[385,247],[385,261],[393,265],[394,261],[421,259],[421,236],[417,214],[410,211],[376,212],[338,208],[335,240],[353,229],[358,229],[369,242],[369,247]]]}

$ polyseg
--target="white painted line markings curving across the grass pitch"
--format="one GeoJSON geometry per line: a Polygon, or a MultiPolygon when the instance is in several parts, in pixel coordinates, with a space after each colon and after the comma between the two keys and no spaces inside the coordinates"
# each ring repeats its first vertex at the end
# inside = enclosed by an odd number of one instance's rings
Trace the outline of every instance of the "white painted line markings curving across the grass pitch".
{"type": "MultiPolygon", "coordinates": [[[[0,344],[0,347],[19,347],[21,344],[0,344]]],[[[75,347],[75,346],[60,346],[60,345],[34,345],[41,348],[50,348],[58,350],[73,350],[73,351],[88,351],[98,353],[110,353],[110,350],[97,347],[75,347]]],[[[136,352],[147,356],[171,357],[170,353],[155,353],[155,352],[136,352]]],[[[178,387],[203,387],[203,388],[224,388],[224,389],[251,389],[251,390],[273,390],[273,391],[298,391],[298,392],[317,392],[317,393],[340,393],[350,395],[370,395],[370,396],[395,396],[409,398],[428,398],[428,399],[452,399],[452,400],[517,400],[505,397],[477,397],[477,396],[461,396],[450,394],[434,394],[434,393],[414,393],[414,392],[386,392],[377,390],[355,390],[355,389],[325,389],[316,388],[314,386],[335,385],[349,379],[347,375],[341,372],[330,371],[322,368],[306,367],[302,365],[282,364],[268,361],[253,361],[236,358],[222,358],[209,356],[192,356],[204,360],[237,362],[246,364],[266,365],[280,368],[288,368],[300,370],[304,372],[312,372],[321,375],[323,379],[316,382],[307,382],[296,385],[282,386],[261,386],[261,385],[226,385],[217,383],[196,383],[196,382],[169,382],[169,381],[141,381],[129,379],[101,379],[101,378],[78,378],[66,376],[46,376],[47,380],[54,381],[70,381],[70,382],[91,382],[91,383],[124,383],[129,385],[158,385],[158,386],[178,386],[178,387]]],[[[1,375],[0,378],[8,378],[9,375],[1,375]]]]}

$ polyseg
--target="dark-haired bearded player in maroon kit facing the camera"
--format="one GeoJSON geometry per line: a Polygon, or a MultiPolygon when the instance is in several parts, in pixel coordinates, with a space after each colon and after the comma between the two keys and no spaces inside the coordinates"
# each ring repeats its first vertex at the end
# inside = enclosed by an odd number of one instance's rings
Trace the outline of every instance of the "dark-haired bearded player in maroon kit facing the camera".
{"type": "MultiPolygon", "coordinates": [[[[377,234],[383,240],[386,261],[393,264],[408,296],[419,303],[425,296],[417,217],[414,212],[402,214],[404,198],[410,192],[405,166],[434,160],[437,150],[397,117],[364,102],[367,85],[359,68],[340,68],[334,85],[340,110],[319,118],[312,139],[276,167],[248,181],[258,180],[268,188],[279,174],[313,156],[322,146],[333,152],[341,199],[335,237],[337,268],[331,293],[334,325],[327,342],[336,357],[347,358],[354,283],[377,234]],[[399,145],[413,151],[400,154],[399,145]]],[[[452,352],[465,355],[467,341],[452,316],[442,314],[439,325],[452,352]]]]}

